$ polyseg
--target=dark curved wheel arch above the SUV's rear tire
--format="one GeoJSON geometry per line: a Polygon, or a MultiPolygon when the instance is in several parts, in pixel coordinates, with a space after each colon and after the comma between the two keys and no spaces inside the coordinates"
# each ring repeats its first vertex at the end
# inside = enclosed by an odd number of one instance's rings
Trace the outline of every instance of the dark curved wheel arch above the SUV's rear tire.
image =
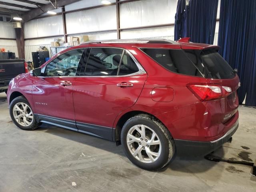
{"type": "MultiPolygon", "coordinates": [[[[158,120],[159,122],[161,122],[163,125],[164,123],[162,121],[160,121],[156,116],[148,113],[148,112],[144,112],[144,111],[140,111],[140,110],[134,110],[134,111],[129,111],[129,112],[126,112],[125,114],[123,114],[117,124],[116,124],[116,127],[115,127],[115,130],[113,131],[113,141],[116,142],[116,145],[120,145],[121,144],[121,131],[122,131],[122,128],[125,124],[125,122],[130,119],[131,117],[133,116],[136,116],[138,114],[147,114],[149,116],[151,116],[152,118],[158,120]]],[[[165,125],[164,125],[165,126],[165,125]]],[[[166,126],[165,126],[166,127],[166,126]]],[[[168,129],[167,129],[168,130],[168,129]]],[[[168,130],[169,131],[169,130],[168,130]]],[[[170,132],[170,131],[169,131],[170,132]]],[[[171,134],[171,133],[170,133],[171,134]]]]}

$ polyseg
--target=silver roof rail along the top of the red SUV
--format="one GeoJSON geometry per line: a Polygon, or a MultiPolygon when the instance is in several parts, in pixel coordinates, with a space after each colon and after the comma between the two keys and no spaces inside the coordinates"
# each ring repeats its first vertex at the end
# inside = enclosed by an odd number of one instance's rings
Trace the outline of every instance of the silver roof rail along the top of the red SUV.
{"type": "Polygon", "coordinates": [[[114,40],[97,40],[97,41],[88,41],[81,43],[83,44],[94,44],[94,43],[164,43],[164,44],[177,44],[177,42],[168,40],[168,39],[114,39],[114,40]]]}

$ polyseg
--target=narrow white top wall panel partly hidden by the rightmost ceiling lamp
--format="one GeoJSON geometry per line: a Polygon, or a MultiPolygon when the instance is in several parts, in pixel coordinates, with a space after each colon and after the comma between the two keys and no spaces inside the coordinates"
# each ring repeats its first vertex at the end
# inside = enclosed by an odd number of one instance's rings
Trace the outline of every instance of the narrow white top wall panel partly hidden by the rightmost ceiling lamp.
{"type": "MultiPolygon", "coordinates": [[[[86,8],[86,7],[102,5],[101,1],[102,0],[82,0],[82,1],[78,1],[78,2],[66,5],[65,10],[70,11],[70,10],[75,10],[75,9],[81,9],[81,8],[86,8]]],[[[116,0],[108,0],[108,1],[111,3],[116,2],[116,0]]]]}

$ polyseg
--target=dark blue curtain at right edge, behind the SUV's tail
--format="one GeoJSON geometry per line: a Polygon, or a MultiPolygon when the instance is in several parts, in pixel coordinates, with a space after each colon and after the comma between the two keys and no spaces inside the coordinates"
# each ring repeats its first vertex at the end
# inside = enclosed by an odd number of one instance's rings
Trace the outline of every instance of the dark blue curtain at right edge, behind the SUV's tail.
{"type": "Polygon", "coordinates": [[[221,0],[219,53],[238,69],[239,103],[256,106],[256,0],[221,0]]]}

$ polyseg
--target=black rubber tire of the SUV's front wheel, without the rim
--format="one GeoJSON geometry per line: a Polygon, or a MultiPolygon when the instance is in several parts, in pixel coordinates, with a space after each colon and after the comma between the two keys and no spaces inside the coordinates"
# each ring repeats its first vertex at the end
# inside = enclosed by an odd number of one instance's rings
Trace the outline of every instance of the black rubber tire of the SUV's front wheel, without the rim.
{"type": "MultiPolygon", "coordinates": [[[[12,118],[12,122],[13,122],[18,128],[20,128],[20,129],[22,129],[22,130],[35,130],[35,129],[38,128],[38,126],[39,126],[39,123],[36,122],[36,118],[35,118],[35,117],[34,117],[33,120],[32,120],[32,124],[30,124],[29,126],[22,126],[22,125],[18,124],[18,122],[15,120],[14,115],[13,115],[13,108],[14,108],[15,104],[17,104],[17,103],[19,103],[19,102],[22,102],[22,103],[27,104],[27,105],[30,107],[30,109],[32,109],[31,106],[30,106],[30,104],[29,104],[29,102],[28,102],[28,100],[26,100],[26,98],[24,98],[24,96],[16,97],[14,100],[12,100],[12,102],[11,102],[11,104],[10,104],[10,109],[9,109],[10,116],[11,116],[11,118],[12,118]]],[[[33,114],[34,114],[34,113],[33,113],[33,114]]]]}

